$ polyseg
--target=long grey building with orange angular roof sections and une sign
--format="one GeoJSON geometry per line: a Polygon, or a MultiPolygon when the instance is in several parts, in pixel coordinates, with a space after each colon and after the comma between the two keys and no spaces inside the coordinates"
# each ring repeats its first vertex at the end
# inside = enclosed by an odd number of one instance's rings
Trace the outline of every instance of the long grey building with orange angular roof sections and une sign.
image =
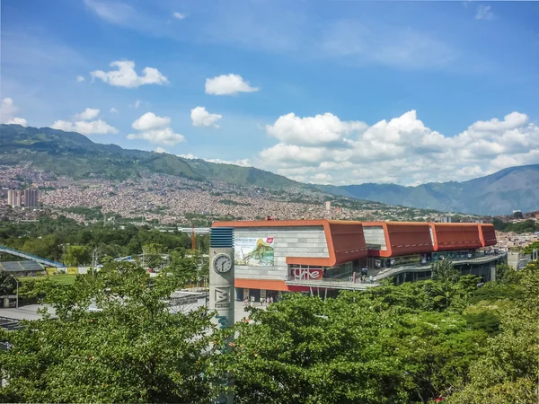
{"type": "Polygon", "coordinates": [[[426,279],[438,259],[451,259],[464,274],[489,281],[507,259],[494,246],[492,224],[352,222],[331,220],[216,222],[234,230],[235,294],[283,292],[335,294],[365,289],[393,277],[396,283],[426,279]],[[370,282],[373,277],[373,282],[370,282]],[[363,280],[367,279],[367,282],[363,280]]]}

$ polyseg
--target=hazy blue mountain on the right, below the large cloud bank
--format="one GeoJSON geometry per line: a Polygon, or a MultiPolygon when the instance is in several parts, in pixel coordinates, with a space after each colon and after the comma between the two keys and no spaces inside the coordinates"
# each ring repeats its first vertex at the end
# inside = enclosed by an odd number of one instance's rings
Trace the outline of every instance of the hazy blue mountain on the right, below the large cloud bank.
{"type": "Polygon", "coordinates": [[[315,187],[349,198],[445,212],[507,215],[513,210],[539,210],[539,164],[511,167],[464,182],[430,182],[417,187],[373,183],[315,187]]]}

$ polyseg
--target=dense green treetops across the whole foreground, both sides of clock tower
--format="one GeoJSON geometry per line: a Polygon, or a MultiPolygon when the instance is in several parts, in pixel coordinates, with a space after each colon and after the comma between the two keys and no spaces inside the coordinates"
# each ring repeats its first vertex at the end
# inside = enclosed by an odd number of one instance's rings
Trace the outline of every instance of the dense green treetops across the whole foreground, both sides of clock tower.
{"type": "Polygon", "coordinates": [[[499,266],[484,285],[440,261],[428,281],[326,301],[288,294],[213,335],[207,312],[172,314],[163,301],[192,264],[174,252],[163,277],[108,263],[75,285],[45,282],[58,318],[0,334],[13,343],[0,352],[9,380],[0,401],[208,402],[225,374],[237,403],[539,399],[536,262],[499,266]]]}

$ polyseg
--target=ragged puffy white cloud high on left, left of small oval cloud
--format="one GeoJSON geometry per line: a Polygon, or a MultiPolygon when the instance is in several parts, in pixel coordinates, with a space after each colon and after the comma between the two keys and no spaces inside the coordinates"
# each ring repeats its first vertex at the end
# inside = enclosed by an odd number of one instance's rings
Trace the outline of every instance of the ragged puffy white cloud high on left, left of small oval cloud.
{"type": "Polygon", "coordinates": [[[112,62],[110,66],[118,67],[118,70],[111,70],[110,72],[95,70],[90,75],[93,78],[101,79],[104,83],[127,88],[136,88],[144,84],[169,83],[168,79],[154,67],[145,67],[142,69],[143,75],[137,75],[135,62],[129,60],[112,62]]]}

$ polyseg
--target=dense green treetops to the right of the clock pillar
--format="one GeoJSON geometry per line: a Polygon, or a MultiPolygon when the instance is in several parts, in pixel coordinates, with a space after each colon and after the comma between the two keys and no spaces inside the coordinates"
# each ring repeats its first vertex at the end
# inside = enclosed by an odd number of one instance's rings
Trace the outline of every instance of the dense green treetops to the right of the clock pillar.
{"type": "Polygon", "coordinates": [[[250,309],[227,355],[236,402],[537,400],[539,267],[481,287],[438,269],[435,280],[250,309]]]}

